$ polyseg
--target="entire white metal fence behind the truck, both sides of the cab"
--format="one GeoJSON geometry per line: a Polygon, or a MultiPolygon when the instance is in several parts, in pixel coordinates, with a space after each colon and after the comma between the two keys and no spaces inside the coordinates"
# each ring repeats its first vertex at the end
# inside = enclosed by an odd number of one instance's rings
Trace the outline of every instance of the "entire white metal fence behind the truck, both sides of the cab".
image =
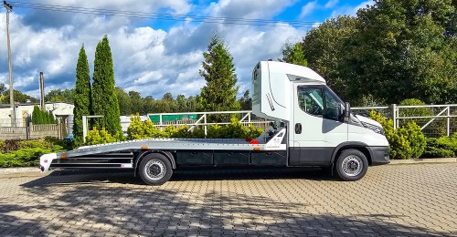
{"type": "MultiPolygon", "coordinates": [[[[352,111],[356,114],[364,116],[369,115],[371,110],[381,113],[386,118],[392,118],[394,128],[399,128],[405,122],[415,121],[420,126],[422,132],[430,137],[450,136],[457,131],[457,104],[452,105],[424,105],[424,106],[381,106],[381,107],[356,107],[352,111]]],[[[271,126],[271,121],[264,118],[256,117],[250,110],[242,111],[219,111],[219,112],[186,112],[186,113],[159,113],[147,114],[141,116],[141,119],[149,119],[151,117],[159,118],[154,122],[154,125],[164,129],[170,125],[180,127],[187,125],[189,129],[195,129],[202,126],[207,134],[207,126],[209,125],[225,125],[230,123],[230,118],[233,116],[245,125],[254,125],[257,128],[268,129],[271,126]],[[194,115],[197,119],[175,119],[166,120],[168,116],[189,116],[194,115]],[[226,118],[223,122],[208,122],[211,116],[223,116],[226,118]]],[[[122,131],[127,132],[130,125],[130,117],[121,117],[122,131]]]]}

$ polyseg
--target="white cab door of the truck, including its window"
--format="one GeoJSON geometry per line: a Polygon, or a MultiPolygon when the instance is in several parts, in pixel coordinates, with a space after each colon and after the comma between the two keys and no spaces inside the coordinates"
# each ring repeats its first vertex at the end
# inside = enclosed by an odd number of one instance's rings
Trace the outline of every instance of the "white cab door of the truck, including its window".
{"type": "Polygon", "coordinates": [[[342,100],[324,85],[294,86],[291,165],[330,163],[335,147],[347,141],[343,108],[342,100]]]}

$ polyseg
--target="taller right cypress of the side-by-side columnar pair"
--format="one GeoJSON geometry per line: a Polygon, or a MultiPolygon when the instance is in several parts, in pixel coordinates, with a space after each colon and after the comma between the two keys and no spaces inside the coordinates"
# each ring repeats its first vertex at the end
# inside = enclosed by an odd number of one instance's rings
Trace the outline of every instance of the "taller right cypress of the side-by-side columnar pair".
{"type": "Polygon", "coordinates": [[[104,128],[112,135],[122,132],[119,103],[114,88],[112,51],[107,36],[103,37],[95,50],[91,96],[93,115],[103,115],[103,118],[94,119],[93,126],[104,128]]]}

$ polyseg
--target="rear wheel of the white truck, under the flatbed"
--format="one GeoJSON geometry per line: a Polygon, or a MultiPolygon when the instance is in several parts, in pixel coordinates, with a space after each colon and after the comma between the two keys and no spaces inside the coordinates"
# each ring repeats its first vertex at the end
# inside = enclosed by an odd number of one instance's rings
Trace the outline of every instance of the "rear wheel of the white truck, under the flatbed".
{"type": "Polygon", "coordinates": [[[164,155],[153,153],[145,156],[139,166],[140,177],[149,185],[162,185],[173,174],[172,165],[164,155]]]}

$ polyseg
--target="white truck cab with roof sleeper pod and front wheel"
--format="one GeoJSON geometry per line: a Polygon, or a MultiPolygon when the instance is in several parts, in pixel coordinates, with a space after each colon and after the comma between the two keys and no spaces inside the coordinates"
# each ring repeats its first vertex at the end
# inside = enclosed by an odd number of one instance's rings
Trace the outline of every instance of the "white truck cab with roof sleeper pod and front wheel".
{"type": "Polygon", "coordinates": [[[287,128],[288,166],[331,167],[343,180],[358,180],[368,165],[389,162],[381,125],[353,115],[311,68],[261,61],[252,88],[253,113],[287,128]]]}

